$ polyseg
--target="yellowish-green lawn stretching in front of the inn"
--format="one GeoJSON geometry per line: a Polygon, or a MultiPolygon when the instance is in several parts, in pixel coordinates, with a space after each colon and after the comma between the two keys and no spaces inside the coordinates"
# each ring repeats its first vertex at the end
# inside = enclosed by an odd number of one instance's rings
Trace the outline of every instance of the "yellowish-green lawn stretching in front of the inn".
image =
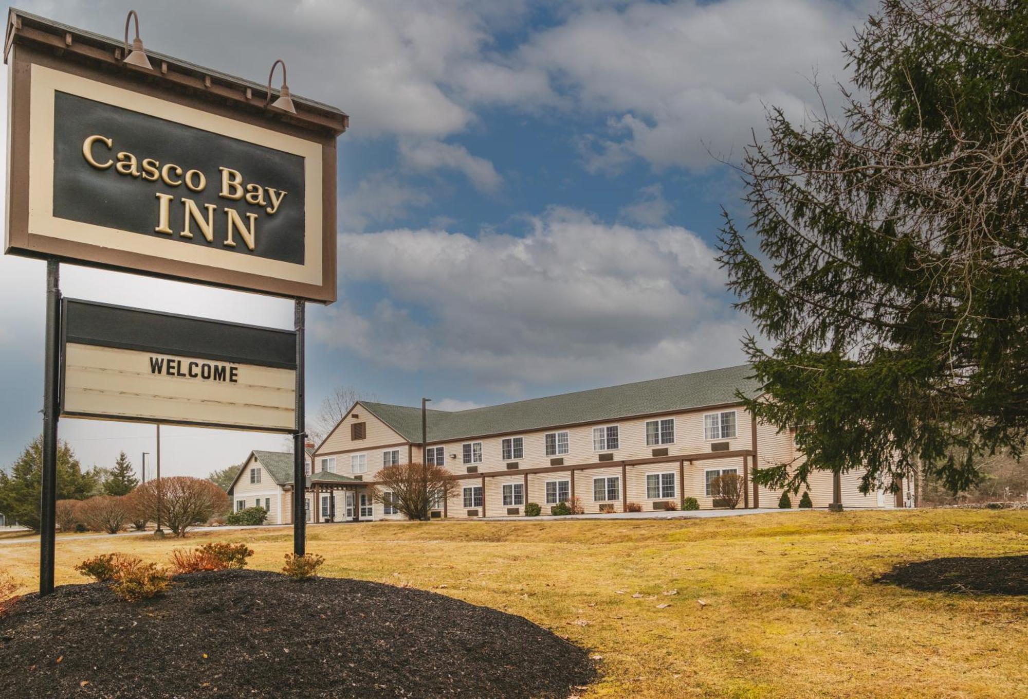
{"type": "MultiPolygon", "coordinates": [[[[247,542],[266,569],[292,548],[271,527],[59,540],[57,583],[82,582],[72,565],[95,553],[164,560],[211,540],[247,542]]],[[[434,590],[589,648],[602,678],[583,697],[1028,696],[1028,597],[874,582],[904,561],[1028,553],[1028,512],[335,524],[310,527],[307,550],[324,575],[434,590]]],[[[0,546],[0,565],[35,587],[38,555],[0,546]]]]}

